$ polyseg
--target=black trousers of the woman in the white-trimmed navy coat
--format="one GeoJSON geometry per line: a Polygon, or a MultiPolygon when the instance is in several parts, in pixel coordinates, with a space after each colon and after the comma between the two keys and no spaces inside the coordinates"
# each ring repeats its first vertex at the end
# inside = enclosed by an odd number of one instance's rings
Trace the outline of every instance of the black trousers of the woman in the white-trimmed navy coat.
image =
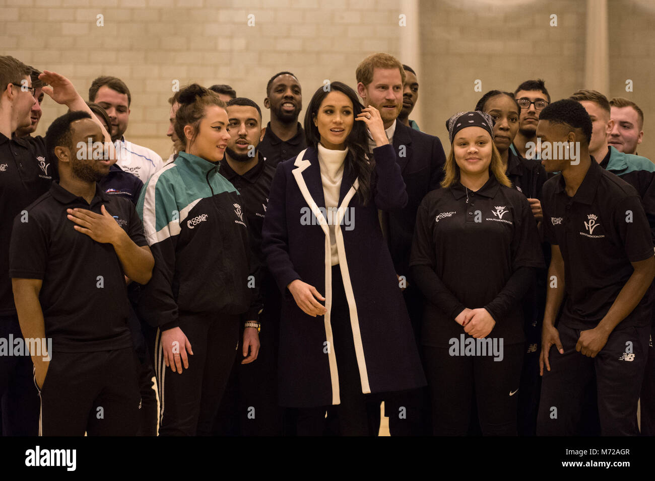
{"type": "Polygon", "coordinates": [[[350,310],[339,264],[332,267],[332,309],[330,313],[333,348],[339,372],[339,398],[336,406],[318,406],[297,410],[297,435],[322,436],[328,428],[326,412],[330,410],[341,436],[376,436],[380,425],[381,395],[362,393],[355,344],[350,326],[350,310]],[[377,410],[377,420],[371,416],[377,410]],[[376,424],[377,422],[377,424],[376,424]]]}

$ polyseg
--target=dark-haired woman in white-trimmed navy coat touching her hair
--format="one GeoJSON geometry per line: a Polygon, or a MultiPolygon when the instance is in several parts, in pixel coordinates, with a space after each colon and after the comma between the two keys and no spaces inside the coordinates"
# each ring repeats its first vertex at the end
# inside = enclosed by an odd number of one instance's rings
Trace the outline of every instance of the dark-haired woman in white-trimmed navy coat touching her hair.
{"type": "Polygon", "coordinates": [[[378,219],[407,193],[379,111],[341,82],[326,87],[305,115],[309,147],[277,168],[263,225],[284,295],[280,404],[299,408],[299,435],[322,434],[332,404],[342,435],[367,435],[370,393],[426,384],[378,219]]]}

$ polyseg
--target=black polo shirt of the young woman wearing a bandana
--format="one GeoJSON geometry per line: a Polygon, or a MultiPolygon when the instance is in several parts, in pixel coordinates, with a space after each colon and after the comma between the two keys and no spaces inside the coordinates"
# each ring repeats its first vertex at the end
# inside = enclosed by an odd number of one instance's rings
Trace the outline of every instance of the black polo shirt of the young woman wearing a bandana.
{"type": "MultiPolygon", "coordinates": [[[[432,190],[419,207],[409,265],[430,267],[459,302],[453,306],[426,303],[422,344],[448,346],[449,339],[464,333],[455,322],[463,308],[487,306],[515,270],[544,265],[527,199],[493,176],[476,192],[460,183],[432,190]]],[[[504,344],[523,341],[520,299],[495,321],[489,336],[503,338],[504,344]]]]}

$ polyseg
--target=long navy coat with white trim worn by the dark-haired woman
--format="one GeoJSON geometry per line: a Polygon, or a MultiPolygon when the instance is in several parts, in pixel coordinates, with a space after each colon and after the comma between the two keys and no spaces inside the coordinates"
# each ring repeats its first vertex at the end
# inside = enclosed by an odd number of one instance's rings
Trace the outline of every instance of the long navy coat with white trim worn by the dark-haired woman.
{"type": "MultiPolygon", "coordinates": [[[[379,225],[378,209],[397,211],[407,193],[391,145],[373,149],[373,198],[362,205],[358,180],[344,171],[339,207],[352,209],[352,230],[337,225],[339,266],[350,306],[362,393],[414,389],[426,384],[398,287],[396,271],[379,225]]],[[[339,404],[339,373],[330,323],[331,255],[327,224],[301,222],[310,207],[321,219],[325,207],[318,151],[309,147],[281,162],[273,179],[264,219],[262,250],[282,300],[280,319],[280,404],[291,407],[339,404]],[[304,210],[303,210],[304,209],[304,210]],[[327,313],[304,313],[286,288],[301,279],[326,298],[327,313]],[[327,289],[326,289],[327,287],[327,289]],[[333,349],[324,349],[326,341],[333,349]],[[327,351],[327,353],[326,353],[327,351]]]]}

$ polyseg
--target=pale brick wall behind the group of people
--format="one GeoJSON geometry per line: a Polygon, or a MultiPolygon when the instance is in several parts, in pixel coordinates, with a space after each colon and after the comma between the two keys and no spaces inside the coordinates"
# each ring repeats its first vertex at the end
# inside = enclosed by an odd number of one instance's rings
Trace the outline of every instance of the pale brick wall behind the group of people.
{"type": "MultiPolygon", "coordinates": [[[[645,2],[641,2],[645,3],[645,2]]],[[[655,158],[655,98],[650,93],[655,9],[611,0],[611,92],[646,114],[641,154],[655,158]],[[633,93],[624,91],[632,79],[633,93]]],[[[168,157],[172,80],[231,84],[263,107],[273,73],[293,71],[305,104],[324,79],[355,86],[365,55],[400,52],[397,0],[3,0],[2,54],[69,77],[86,98],[91,81],[116,75],[132,92],[127,135],[168,157]],[[96,26],[103,14],[104,26],[96,26]],[[248,27],[248,15],[255,26],[248,27]]],[[[522,80],[546,79],[553,99],[584,87],[586,2],[554,0],[529,7],[480,0],[420,0],[421,127],[447,139],[447,116],[472,109],[491,88],[514,90],[522,80]],[[464,7],[461,7],[464,5],[464,7]],[[550,27],[550,14],[558,27],[550,27]],[[482,80],[483,92],[473,82],[482,80]]],[[[403,59],[400,59],[401,61],[403,59]]],[[[65,108],[43,103],[38,134],[65,108]]],[[[304,112],[303,114],[304,115],[304,112]]],[[[301,120],[302,120],[301,115],[301,120]]],[[[264,110],[264,121],[269,118],[264,110]]],[[[447,146],[446,146],[447,147],[447,146]]]]}

